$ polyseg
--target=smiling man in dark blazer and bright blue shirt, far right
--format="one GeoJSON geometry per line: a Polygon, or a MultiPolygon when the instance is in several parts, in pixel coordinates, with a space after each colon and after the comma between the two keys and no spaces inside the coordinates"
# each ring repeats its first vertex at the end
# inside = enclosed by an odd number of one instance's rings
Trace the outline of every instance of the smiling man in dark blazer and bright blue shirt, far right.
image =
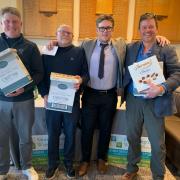
{"type": "Polygon", "coordinates": [[[151,171],[154,180],[164,179],[165,174],[165,139],[164,116],[175,111],[172,92],[180,85],[180,63],[175,50],[171,46],[160,47],[156,42],[157,20],[151,13],[143,14],[139,21],[141,41],[127,47],[125,62],[124,87],[126,97],[128,165],[123,180],[131,180],[137,175],[141,157],[142,126],[145,124],[151,143],[151,171]],[[136,91],[128,66],[156,55],[163,63],[166,81],[160,85],[148,82],[149,88],[136,91]],[[138,96],[137,96],[138,95],[138,96]]]}

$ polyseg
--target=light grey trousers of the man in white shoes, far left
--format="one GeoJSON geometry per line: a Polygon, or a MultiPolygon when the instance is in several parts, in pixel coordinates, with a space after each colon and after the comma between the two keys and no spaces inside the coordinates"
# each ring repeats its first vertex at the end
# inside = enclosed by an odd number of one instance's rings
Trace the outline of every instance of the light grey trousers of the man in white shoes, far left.
{"type": "Polygon", "coordinates": [[[16,130],[19,136],[22,169],[32,166],[33,123],[34,99],[21,102],[0,101],[0,174],[6,174],[9,171],[9,141],[10,137],[13,137],[13,130],[16,130]]]}

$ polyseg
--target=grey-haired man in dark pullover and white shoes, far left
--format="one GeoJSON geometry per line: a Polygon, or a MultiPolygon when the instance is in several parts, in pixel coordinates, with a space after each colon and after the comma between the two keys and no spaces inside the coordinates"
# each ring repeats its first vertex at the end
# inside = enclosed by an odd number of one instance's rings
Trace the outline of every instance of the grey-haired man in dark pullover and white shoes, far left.
{"type": "Polygon", "coordinates": [[[14,7],[5,7],[1,9],[0,15],[4,31],[0,36],[0,51],[7,48],[16,49],[33,79],[31,84],[17,89],[8,96],[0,90],[0,180],[5,179],[9,171],[9,138],[12,131],[16,131],[19,137],[22,173],[29,180],[37,180],[38,174],[31,162],[34,123],[33,90],[43,78],[42,60],[36,44],[25,39],[21,33],[22,21],[19,11],[14,7]]]}

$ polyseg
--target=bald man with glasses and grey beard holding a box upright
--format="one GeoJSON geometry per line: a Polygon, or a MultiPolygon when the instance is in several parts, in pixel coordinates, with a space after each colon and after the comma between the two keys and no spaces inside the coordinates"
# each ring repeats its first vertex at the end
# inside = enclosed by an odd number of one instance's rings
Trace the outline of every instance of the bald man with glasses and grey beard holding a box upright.
{"type": "Polygon", "coordinates": [[[69,25],[61,25],[56,32],[58,50],[55,56],[43,55],[44,79],[40,83],[39,92],[46,106],[50,88],[51,72],[74,75],[79,79],[75,84],[76,94],[72,113],[46,109],[46,124],[48,130],[48,169],[46,178],[52,179],[58,173],[59,136],[63,125],[65,134],[64,165],[68,178],[75,177],[73,168],[75,132],[80,118],[80,86],[89,80],[87,61],[84,50],[72,45],[73,33],[69,25]]]}

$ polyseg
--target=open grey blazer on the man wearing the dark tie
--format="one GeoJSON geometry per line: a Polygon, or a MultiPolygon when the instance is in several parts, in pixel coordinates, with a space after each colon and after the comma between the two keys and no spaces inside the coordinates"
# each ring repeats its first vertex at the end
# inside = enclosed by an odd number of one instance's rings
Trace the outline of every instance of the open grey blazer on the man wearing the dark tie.
{"type": "MultiPolygon", "coordinates": [[[[87,39],[82,42],[82,47],[85,50],[86,59],[88,63],[88,67],[90,64],[90,59],[93,53],[93,50],[96,46],[97,39],[87,39]]],[[[119,71],[118,71],[118,80],[117,80],[117,88],[122,88],[122,77],[123,77],[123,67],[124,67],[124,59],[126,54],[126,43],[122,38],[117,38],[112,40],[112,46],[115,49],[116,55],[118,57],[119,62],[119,71]]]]}

